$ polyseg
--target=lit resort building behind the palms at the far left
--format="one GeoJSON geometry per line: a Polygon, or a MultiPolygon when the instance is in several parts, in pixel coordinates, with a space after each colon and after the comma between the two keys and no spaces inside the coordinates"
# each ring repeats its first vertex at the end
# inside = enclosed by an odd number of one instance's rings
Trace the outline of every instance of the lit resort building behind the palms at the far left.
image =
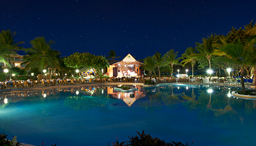
{"type": "MultiPolygon", "coordinates": [[[[21,65],[22,63],[24,63],[24,55],[19,55],[19,54],[10,54],[10,58],[7,58],[6,60],[8,62],[10,62],[11,67],[18,67],[20,69],[24,69],[26,67],[26,65],[21,65]]],[[[5,63],[0,63],[0,65],[5,68],[7,67],[7,65],[5,63]]]]}

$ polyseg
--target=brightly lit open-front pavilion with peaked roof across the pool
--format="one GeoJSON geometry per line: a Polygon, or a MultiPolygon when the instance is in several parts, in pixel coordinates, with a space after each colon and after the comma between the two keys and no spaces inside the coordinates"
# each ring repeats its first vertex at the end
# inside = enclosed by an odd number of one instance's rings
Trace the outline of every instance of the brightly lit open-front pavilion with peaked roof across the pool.
{"type": "Polygon", "coordinates": [[[139,77],[144,73],[143,69],[140,69],[143,63],[134,59],[131,54],[125,56],[120,62],[110,64],[107,69],[107,75],[109,77],[139,77]]]}

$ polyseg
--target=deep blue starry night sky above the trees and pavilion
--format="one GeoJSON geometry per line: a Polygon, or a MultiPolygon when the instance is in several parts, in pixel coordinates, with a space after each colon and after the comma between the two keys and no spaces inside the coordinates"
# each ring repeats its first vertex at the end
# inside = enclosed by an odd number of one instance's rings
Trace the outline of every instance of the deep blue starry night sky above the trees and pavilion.
{"type": "Polygon", "coordinates": [[[181,55],[211,33],[243,28],[256,18],[255,6],[256,1],[236,0],[5,0],[0,21],[2,30],[17,32],[15,41],[25,41],[24,47],[44,36],[62,56],[107,57],[114,50],[122,58],[130,53],[144,59],[171,49],[181,55]]]}

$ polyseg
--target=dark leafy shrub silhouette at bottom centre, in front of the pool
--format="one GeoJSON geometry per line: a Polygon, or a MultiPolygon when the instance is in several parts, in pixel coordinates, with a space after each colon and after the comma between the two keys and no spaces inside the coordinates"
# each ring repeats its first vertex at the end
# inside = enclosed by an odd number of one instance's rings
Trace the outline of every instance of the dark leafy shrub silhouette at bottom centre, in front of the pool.
{"type": "MultiPolygon", "coordinates": [[[[137,132],[137,131],[136,131],[137,132]]],[[[129,137],[130,141],[123,141],[119,142],[118,140],[113,143],[114,146],[128,146],[128,145],[148,145],[148,146],[155,146],[155,145],[166,145],[166,146],[186,146],[187,144],[183,144],[181,142],[165,142],[162,139],[159,138],[153,138],[148,133],[145,134],[144,130],[142,133],[138,133],[138,136],[135,137],[129,137]],[[127,143],[127,144],[125,144],[127,143]]],[[[193,142],[191,143],[191,145],[193,142]]],[[[106,145],[107,146],[107,145],[106,145]]]]}

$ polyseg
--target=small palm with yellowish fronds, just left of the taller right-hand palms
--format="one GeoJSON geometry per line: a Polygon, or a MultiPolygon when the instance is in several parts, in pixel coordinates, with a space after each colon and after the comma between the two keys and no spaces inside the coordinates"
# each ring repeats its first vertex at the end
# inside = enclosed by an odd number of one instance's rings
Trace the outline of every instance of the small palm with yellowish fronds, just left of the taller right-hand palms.
{"type": "Polygon", "coordinates": [[[192,78],[194,76],[194,64],[196,63],[196,56],[195,54],[195,48],[188,47],[184,54],[181,56],[184,58],[181,63],[183,63],[183,66],[187,63],[191,63],[192,65],[192,78]]]}

